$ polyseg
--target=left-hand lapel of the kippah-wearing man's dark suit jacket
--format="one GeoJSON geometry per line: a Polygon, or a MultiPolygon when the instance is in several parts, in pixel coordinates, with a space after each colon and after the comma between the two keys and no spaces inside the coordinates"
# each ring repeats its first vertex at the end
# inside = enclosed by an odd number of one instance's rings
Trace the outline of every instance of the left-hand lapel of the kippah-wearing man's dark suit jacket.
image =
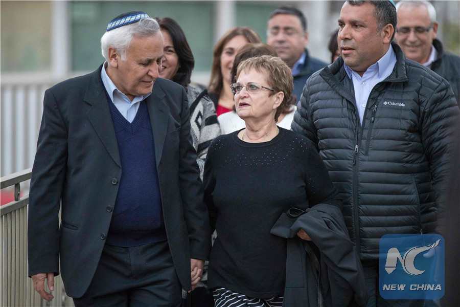
{"type": "Polygon", "coordinates": [[[89,77],[89,84],[84,100],[92,106],[89,108],[86,115],[107,149],[110,157],[121,167],[117,137],[115,135],[115,129],[113,128],[107,97],[105,96],[104,85],[100,77],[101,69],[102,65],[89,77]]]}

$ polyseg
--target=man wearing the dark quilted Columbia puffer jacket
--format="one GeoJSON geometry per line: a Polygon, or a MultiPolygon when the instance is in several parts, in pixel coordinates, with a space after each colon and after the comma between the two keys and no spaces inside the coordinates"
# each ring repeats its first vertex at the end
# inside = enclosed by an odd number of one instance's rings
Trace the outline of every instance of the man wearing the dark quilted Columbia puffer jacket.
{"type": "Polygon", "coordinates": [[[292,123],[316,144],[342,196],[377,305],[379,239],[435,231],[459,121],[449,83],[391,42],[396,23],[392,2],[347,1],[341,57],[307,80],[292,123]]]}

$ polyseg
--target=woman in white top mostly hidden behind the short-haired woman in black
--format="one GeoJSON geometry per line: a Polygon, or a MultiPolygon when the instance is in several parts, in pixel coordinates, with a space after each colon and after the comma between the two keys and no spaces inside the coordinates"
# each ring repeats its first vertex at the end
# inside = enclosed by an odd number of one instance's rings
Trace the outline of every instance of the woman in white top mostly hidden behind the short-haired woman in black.
{"type": "MultiPolygon", "coordinates": [[[[245,59],[261,56],[261,55],[271,55],[271,56],[278,56],[277,52],[266,43],[247,43],[243,47],[241,47],[236,56],[235,60],[233,61],[233,68],[230,73],[230,79],[233,82],[236,82],[235,76],[237,73],[238,64],[244,61],[245,59]]],[[[278,118],[277,125],[285,128],[291,128],[291,122],[294,119],[294,112],[295,112],[295,95],[291,95],[287,101],[286,107],[283,109],[283,112],[280,114],[278,118]]],[[[224,113],[217,117],[220,124],[220,130],[222,134],[232,133],[233,131],[240,130],[244,128],[244,120],[242,120],[238,114],[236,113],[235,105],[233,106],[232,112],[224,113]]]]}

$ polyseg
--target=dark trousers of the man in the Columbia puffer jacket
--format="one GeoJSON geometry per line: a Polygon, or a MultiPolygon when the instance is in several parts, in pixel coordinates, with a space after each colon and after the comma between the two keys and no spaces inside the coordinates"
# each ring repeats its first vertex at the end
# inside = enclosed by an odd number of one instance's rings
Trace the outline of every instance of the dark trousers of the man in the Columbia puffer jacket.
{"type": "Polygon", "coordinates": [[[384,299],[379,291],[379,261],[362,262],[364,278],[370,297],[366,307],[424,307],[423,299],[384,299]]]}

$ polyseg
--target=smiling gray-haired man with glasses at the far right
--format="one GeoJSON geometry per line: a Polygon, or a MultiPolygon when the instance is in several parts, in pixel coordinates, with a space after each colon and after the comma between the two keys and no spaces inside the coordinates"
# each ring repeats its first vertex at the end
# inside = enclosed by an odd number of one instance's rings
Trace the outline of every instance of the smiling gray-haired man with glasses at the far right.
{"type": "Polygon", "coordinates": [[[406,58],[419,62],[446,79],[460,101],[460,57],[443,50],[436,39],[436,11],[428,1],[404,0],[396,5],[395,38],[406,58]]]}

